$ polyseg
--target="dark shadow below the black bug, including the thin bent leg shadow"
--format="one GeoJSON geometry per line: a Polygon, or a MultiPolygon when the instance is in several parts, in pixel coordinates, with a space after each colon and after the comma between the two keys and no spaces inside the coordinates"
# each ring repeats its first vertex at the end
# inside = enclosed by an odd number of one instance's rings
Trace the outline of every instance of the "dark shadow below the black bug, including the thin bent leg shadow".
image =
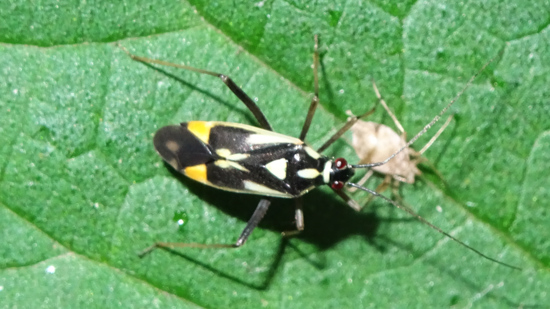
{"type": "MultiPolygon", "coordinates": [[[[174,170],[169,164],[165,163],[165,166],[191,193],[199,196],[201,200],[217,207],[229,216],[238,218],[243,222],[247,222],[250,219],[261,198],[259,195],[237,194],[215,189],[186,178],[183,174],[174,170]]],[[[375,212],[356,212],[346,205],[345,202],[340,200],[340,197],[337,195],[327,194],[321,190],[314,190],[306,194],[304,196],[303,205],[305,230],[293,238],[315,245],[318,251],[324,251],[352,235],[361,235],[369,244],[375,246],[377,250],[381,252],[386,251],[384,240],[377,240],[376,231],[382,219],[378,218],[375,212]]],[[[258,227],[276,231],[277,233],[295,229],[294,207],[295,203],[293,200],[273,198],[270,209],[267,211],[266,216],[261,220],[258,227]]],[[[238,237],[239,235],[235,234],[234,240],[236,241],[238,237]]],[[[246,282],[243,278],[237,278],[234,275],[215,269],[205,262],[197,261],[195,258],[185,255],[184,250],[164,250],[183,257],[185,260],[194,262],[216,273],[220,277],[233,280],[234,282],[258,290],[269,288],[277,269],[284,263],[283,255],[287,247],[292,248],[295,253],[303,257],[304,260],[309,262],[313,267],[317,269],[324,269],[324,267],[326,267],[323,261],[312,259],[309,253],[301,251],[297,246],[293,245],[288,238],[281,237],[282,240],[279,244],[277,254],[270,263],[271,266],[266,273],[265,280],[261,283],[246,282]]],[[[254,246],[254,242],[248,241],[245,246],[254,246]]]]}

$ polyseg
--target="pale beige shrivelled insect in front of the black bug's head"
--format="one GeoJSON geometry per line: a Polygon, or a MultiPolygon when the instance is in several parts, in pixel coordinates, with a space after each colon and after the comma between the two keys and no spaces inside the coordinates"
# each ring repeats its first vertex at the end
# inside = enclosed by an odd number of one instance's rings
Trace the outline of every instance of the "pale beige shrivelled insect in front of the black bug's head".
{"type": "MultiPolygon", "coordinates": [[[[407,144],[405,129],[403,129],[397,117],[395,117],[386,101],[384,101],[380,95],[374,80],[372,80],[372,88],[376,93],[378,102],[384,107],[389,117],[392,118],[400,134],[396,133],[387,125],[357,120],[357,122],[351,126],[350,130],[351,146],[353,146],[357,157],[359,157],[359,164],[383,161],[407,144]]],[[[351,111],[346,111],[346,113],[348,113],[350,117],[354,117],[351,111]]],[[[415,151],[411,147],[404,148],[388,163],[369,169],[365,176],[357,181],[357,184],[363,185],[375,172],[385,175],[384,180],[375,190],[378,193],[385,191],[389,185],[392,185],[395,189],[399,185],[399,182],[414,183],[415,176],[421,174],[416,165],[425,161],[425,159],[421,157],[422,153],[436,141],[439,135],[443,133],[443,130],[450,124],[451,120],[453,120],[453,115],[447,118],[447,121],[445,121],[437,133],[432,136],[430,141],[428,141],[420,151],[415,151]]],[[[356,190],[356,187],[348,188],[350,192],[356,190]]],[[[371,196],[371,198],[372,197],[374,196],[371,196]]]]}

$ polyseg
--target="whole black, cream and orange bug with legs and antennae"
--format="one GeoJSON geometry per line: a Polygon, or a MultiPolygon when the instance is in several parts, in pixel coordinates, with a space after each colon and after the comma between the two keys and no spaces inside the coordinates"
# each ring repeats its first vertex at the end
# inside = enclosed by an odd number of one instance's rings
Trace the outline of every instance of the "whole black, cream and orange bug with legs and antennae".
{"type": "MultiPolygon", "coordinates": [[[[466,245],[464,242],[431,224],[419,214],[412,211],[412,209],[400,205],[376,191],[349,182],[351,176],[354,175],[355,169],[376,168],[386,164],[399,153],[407,149],[422,134],[426,133],[426,131],[452,106],[458,97],[460,97],[476,76],[496,58],[490,60],[472,76],[464,89],[461,90],[430,123],[424,126],[419,133],[393,154],[383,161],[376,163],[349,164],[344,158],[332,159],[323,156],[321,153],[349,130],[357,120],[372,114],[376,107],[358,117],[350,117],[342,128],[334,133],[318,150],[313,150],[313,148],[305,144],[304,139],[307,135],[307,131],[309,131],[313,114],[315,114],[315,110],[319,103],[317,74],[319,54],[317,35],[315,35],[314,40],[314,95],[299,138],[274,133],[270,123],[267,121],[260,108],[231,78],[229,78],[229,76],[190,67],[188,65],[174,64],[162,60],[135,56],[121,46],[132,59],[139,62],[167,65],[200,74],[212,75],[221,79],[234,95],[245,104],[261,126],[261,128],[258,128],[256,126],[239,123],[190,121],[178,125],[164,126],[157,131],[153,137],[153,145],[156,151],[165,162],[178,172],[200,183],[221,190],[262,195],[266,198],[261,198],[254,213],[246,223],[243,232],[233,244],[156,242],[156,244],[145,249],[139,255],[144,256],[157,247],[171,249],[174,247],[197,247],[204,249],[240,247],[249,238],[252,230],[256,228],[260,220],[266,214],[268,207],[271,205],[272,197],[292,198],[295,201],[296,230],[284,232],[283,234],[293,235],[299,233],[305,228],[301,197],[315,187],[326,184],[356,211],[360,211],[361,207],[344,193],[342,189],[345,185],[355,187],[369,192],[373,196],[383,198],[392,203],[395,207],[408,212],[422,223],[427,224],[439,233],[442,233],[488,260],[519,269],[518,267],[486,256],[473,247],[466,245]]],[[[382,100],[381,97],[379,97],[379,100],[382,100]]]]}

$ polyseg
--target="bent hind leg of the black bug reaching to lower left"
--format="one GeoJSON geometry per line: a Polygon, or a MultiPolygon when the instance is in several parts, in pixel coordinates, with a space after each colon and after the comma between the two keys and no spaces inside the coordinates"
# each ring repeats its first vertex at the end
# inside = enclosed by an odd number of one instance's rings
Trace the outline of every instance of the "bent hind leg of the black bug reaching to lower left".
{"type": "Polygon", "coordinates": [[[197,244],[196,242],[156,242],[154,245],[150,246],[149,248],[145,249],[144,251],[141,251],[139,253],[139,257],[145,256],[147,253],[155,250],[156,248],[168,248],[168,249],[174,249],[175,247],[178,248],[201,248],[201,249],[209,249],[209,248],[238,248],[244,244],[246,239],[250,236],[252,233],[252,230],[254,230],[255,227],[257,227],[258,223],[260,223],[260,220],[265,216],[267,212],[267,208],[269,208],[271,205],[271,201],[265,200],[262,198],[260,200],[260,203],[258,203],[258,206],[256,207],[256,210],[252,214],[252,217],[248,220],[246,223],[246,227],[243,230],[243,233],[239,236],[239,239],[234,244],[197,244]]]}

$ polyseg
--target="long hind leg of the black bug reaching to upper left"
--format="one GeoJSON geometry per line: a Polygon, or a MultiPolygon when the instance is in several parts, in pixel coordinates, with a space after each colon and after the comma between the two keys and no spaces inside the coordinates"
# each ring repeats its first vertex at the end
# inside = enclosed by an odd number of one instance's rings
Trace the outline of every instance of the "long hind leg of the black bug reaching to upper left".
{"type": "Polygon", "coordinates": [[[216,72],[212,72],[212,71],[207,71],[207,70],[197,69],[197,68],[194,68],[194,67],[189,67],[189,65],[176,64],[176,63],[166,62],[166,61],[157,60],[157,59],[151,59],[151,58],[135,56],[134,54],[131,54],[126,48],[124,48],[120,45],[119,45],[119,47],[122,48],[122,50],[125,53],[127,53],[128,56],[130,56],[130,58],[132,58],[136,61],[139,61],[139,62],[166,65],[168,67],[174,67],[174,68],[178,68],[178,69],[194,71],[196,73],[216,76],[217,78],[221,79],[224,82],[224,84],[227,85],[229,90],[231,90],[235,94],[235,96],[237,96],[239,98],[239,100],[241,100],[241,102],[243,102],[246,105],[246,107],[248,107],[249,111],[252,112],[252,114],[254,115],[254,117],[256,118],[258,123],[260,123],[260,125],[263,129],[270,130],[270,131],[273,130],[271,128],[270,123],[267,121],[265,115],[263,115],[262,111],[256,105],[256,103],[254,103],[254,101],[252,101],[252,99],[242,89],[240,89],[240,87],[237,86],[237,84],[235,84],[235,82],[232,79],[230,79],[229,76],[224,75],[224,74],[220,74],[220,73],[216,73],[216,72]]]}

